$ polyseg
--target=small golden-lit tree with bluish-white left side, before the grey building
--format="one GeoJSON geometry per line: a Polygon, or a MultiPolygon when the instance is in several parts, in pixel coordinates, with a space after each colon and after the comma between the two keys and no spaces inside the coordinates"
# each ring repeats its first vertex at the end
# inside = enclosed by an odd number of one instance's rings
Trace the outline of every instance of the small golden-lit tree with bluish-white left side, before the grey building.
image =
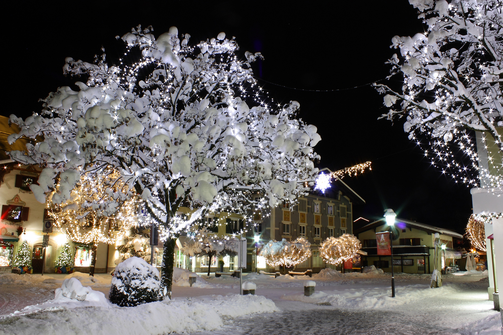
{"type": "Polygon", "coordinates": [[[311,257],[311,244],[299,237],[295,241],[271,240],[264,245],[259,256],[263,256],[266,263],[271,266],[283,265],[283,274],[287,266],[297,265],[311,257]]]}

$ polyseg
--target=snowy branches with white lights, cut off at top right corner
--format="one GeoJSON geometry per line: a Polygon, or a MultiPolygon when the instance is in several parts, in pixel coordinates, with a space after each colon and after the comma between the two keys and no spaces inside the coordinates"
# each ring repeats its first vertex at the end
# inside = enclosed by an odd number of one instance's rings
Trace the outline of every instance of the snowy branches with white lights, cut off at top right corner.
{"type": "MultiPolygon", "coordinates": [[[[400,52],[387,62],[391,65],[390,82],[374,84],[384,95],[384,105],[390,108],[382,118],[405,118],[404,130],[409,138],[420,134],[433,137],[437,150],[427,154],[438,153],[440,159],[450,164],[452,153],[442,147],[458,142],[478,169],[473,141],[467,141],[465,130],[488,132],[503,149],[496,131],[503,125],[501,2],[409,3],[418,10],[428,29],[412,37],[393,37],[391,47],[400,52]],[[403,77],[403,84],[391,82],[397,75],[403,77]]],[[[500,176],[491,177],[494,186],[502,181],[500,176]]]]}

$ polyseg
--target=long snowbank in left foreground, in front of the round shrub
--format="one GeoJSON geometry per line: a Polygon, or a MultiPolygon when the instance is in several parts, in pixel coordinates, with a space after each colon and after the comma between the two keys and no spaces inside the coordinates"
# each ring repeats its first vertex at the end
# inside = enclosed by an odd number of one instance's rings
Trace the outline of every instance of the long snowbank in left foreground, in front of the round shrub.
{"type": "Polygon", "coordinates": [[[272,300],[258,295],[156,301],[135,307],[48,308],[0,318],[0,335],[157,335],[211,331],[221,327],[223,319],[277,310],[272,300]]]}

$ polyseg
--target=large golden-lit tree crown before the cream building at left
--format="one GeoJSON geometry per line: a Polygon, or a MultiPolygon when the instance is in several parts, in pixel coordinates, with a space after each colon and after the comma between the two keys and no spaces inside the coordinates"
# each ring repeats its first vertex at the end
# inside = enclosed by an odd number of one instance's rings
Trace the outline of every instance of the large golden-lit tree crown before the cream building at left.
{"type": "MultiPolygon", "coordinates": [[[[56,185],[55,192],[58,189],[59,184],[56,185]]],[[[62,204],[50,201],[49,215],[54,219],[56,228],[73,242],[113,244],[122,238],[122,235],[113,236],[114,231],[119,230],[123,234],[136,224],[140,201],[134,196],[134,192],[129,199],[114,199],[119,190],[122,194],[127,193],[127,185],[115,171],[106,169],[82,174],[71,192],[73,201],[62,204]],[[108,209],[115,208],[116,211],[104,210],[100,206],[102,203],[107,203],[108,209]]]]}

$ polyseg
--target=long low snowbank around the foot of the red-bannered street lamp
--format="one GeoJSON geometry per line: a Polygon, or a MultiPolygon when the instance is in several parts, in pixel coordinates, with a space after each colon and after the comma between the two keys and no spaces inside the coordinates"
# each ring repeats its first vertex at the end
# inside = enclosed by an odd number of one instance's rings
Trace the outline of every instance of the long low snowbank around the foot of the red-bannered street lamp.
{"type": "Polygon", "coordinates": [[[313,295],[305,297],[303,293],[297,293],[293,295],[284,295],[282,299],[329,304],[344,308],[371,309],[399,306],[417,300],[454,292],[456,292],[456,288],[450,285],[431,289],[429,285],[415,284],[397,288],[394,298],[391,297],[391,289],[360,288],[348,289],[342,292],[338,291],[337,293],[319,291],[314,297],[313,295]]]}

